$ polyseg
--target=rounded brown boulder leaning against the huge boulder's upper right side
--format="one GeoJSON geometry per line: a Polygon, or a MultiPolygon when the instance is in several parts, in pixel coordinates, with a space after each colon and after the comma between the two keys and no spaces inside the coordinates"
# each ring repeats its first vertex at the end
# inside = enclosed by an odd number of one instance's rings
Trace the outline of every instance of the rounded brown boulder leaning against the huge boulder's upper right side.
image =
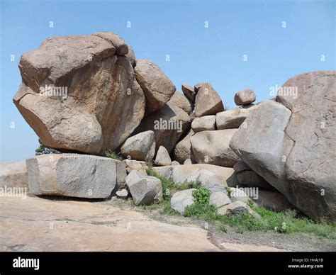
{"type": "Polygon", "coordinates": [[[176,87],[150,60],[137,60],[135,77],[146,97],[146,113],[152,113],[164,106],[172,98],[176,87]]]}

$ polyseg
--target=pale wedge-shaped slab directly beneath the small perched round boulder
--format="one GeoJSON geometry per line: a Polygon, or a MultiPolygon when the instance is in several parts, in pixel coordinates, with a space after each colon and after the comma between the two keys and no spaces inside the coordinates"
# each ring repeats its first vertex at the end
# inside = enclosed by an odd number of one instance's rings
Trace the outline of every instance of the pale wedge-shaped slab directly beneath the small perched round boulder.
{"type": "Polygon", "coordinates": [[[250,104],[233,110],[217,113],[215,116],[217,129],[224,130],[239,128],[249,113],[255,108],[257,108],[257,105],[250,104]]]}

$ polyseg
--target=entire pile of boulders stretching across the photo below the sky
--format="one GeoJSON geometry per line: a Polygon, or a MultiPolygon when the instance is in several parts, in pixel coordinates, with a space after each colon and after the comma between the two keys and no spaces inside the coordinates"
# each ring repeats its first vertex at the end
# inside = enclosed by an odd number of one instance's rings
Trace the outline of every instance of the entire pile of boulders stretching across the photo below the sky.
{"type": "MultiPolygon", "coordinates": [[[[13,102],[61,154],[1,163],[1,186],[148,205],[165,196],[147,175],[154,165],[175,184],[199,181],[223,215],[257,216],[248,206],[255,201],[336,220],[335,72],[293,77],[256,105],[252,89],[238,91],[237,108],[225,110],[210,83],[177,91],[115,33],[48,38],[18,66],[13,102]]],[[[172,194],[172,208],[184,213],[193,191],[172,194]]]]}

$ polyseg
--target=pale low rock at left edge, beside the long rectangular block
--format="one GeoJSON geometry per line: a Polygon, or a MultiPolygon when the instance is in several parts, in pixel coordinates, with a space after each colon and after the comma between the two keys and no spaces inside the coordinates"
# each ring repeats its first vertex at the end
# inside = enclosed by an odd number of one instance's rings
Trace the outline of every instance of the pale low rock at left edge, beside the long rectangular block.
{"type": "Polygon", "coordinates": [[[28,187],[26,161],[0,162],[0,188],[28,187]]]}

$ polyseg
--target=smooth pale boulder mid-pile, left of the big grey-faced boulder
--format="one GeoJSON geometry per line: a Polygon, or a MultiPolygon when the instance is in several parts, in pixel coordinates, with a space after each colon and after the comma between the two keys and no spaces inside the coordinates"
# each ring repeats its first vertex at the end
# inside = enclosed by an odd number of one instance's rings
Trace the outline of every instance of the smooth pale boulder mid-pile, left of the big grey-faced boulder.
{"type": "Polygon", "coordinates": [[[240,160],[229,147],[237,129],[198,132],[191,137],[191,148],[197,163],[233,167],[240,160]]]}

